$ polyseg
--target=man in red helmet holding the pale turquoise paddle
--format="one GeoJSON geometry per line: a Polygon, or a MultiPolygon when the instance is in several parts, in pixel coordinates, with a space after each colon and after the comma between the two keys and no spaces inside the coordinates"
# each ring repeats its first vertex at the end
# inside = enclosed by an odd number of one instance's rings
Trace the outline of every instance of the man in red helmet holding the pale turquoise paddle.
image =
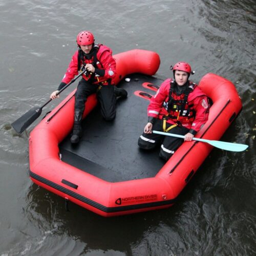
{"type": "Polygon", "coordinates": [[[191,141],[208,120],[208,98],[197,84],[188,80],[191,68],[178,62],[173,68],[174,79],[166,79],[151,98],[147,108],[148,123],[138,145],[151,150],[161,144],[160,157],[168,160],[182,144],[183,139],[153,134],[152,130],[184,135],[191,141]]]}

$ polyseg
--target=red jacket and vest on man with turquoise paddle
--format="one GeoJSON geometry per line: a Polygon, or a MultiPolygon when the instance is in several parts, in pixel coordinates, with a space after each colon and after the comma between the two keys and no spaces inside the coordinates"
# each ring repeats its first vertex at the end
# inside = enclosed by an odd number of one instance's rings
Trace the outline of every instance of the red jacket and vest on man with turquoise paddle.
{"type": "Polygon", "coordinates": [[[208,119],[207,96],[193,82],[189,81],[186,87],[184,93],[177,95],[174,92],[174,81],[166,79],[150,100],[148,117],[165,119],[163,123],[182,125],[198,132],[208,119]]]}

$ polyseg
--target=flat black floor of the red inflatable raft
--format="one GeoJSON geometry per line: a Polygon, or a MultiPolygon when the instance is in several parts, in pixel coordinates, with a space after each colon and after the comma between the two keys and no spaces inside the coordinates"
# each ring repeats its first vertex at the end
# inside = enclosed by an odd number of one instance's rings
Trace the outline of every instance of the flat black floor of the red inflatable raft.
{"type": "Polygon", "coordinates": [[[143,91],[155,94],[142,87],[143,82],[160,85],[161,79],[133,74],[118,84],[128,97],[118,99],[114,121],[105,121],[98,107],[83,120],[83,136],[77,145],[70,143],[70,135],[60,145],[61,160],[110,182],[155,177],[164,161],[159,158],[159,149],[145,152],[138,147],[138,138],[147,122],[148,100],[134,94],[143,91]]]}

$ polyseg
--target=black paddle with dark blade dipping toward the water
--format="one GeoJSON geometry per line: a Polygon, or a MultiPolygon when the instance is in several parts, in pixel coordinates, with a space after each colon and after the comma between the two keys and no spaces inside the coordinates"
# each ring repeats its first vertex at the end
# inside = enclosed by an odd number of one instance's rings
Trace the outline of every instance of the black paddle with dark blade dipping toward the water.
{"type": "MultiPolygon", "coordinates": [[[[71,83],[73,83],[78,77],[80,77],[83,73],[86,73],[87,70],[84,69],[79,75],[77,75],[75,78],[73,78],[68,84],[66,84],[65,87],[63,87],[56,95],[59,95],[61,92],[63,92],[67,87],[70,86],[71,83]]],[[[42,106],[34,106],[31,110],[26,112],[23,116],[18,118],[16,121],[11,123],[13,129],[18,133],[21,134],[24,132],[27,127],[33,123],[42,113],[42,109],[51,102],[52,99],[48,100],[44,105],[42,106]]]]}

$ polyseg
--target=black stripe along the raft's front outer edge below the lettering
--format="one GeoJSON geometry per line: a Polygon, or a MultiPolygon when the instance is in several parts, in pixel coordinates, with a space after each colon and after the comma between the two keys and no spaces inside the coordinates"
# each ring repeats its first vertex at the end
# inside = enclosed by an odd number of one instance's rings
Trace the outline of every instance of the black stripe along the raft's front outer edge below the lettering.
{"type": "Polygon", "coordinates": [[[61,191],[62,193],[65,193],[83,203],[86,203],[88,205],[91,205],[101,211],[104,212],[118,212],[118,211],[127,211],[127,210],[137,210],[137,209],[143,209],[143,208],[150,208],[150,207],[159,207],[159,206],[164,206],[164,205],[171,205],[174,204],[176,202],[176,199],[170,199],[170,200],[165,200],[165,201],[160,201],[160,202],[151,202],[151,203],[143,203],[143,204],[136,204],[136,205],[126,205],[126,206],[117,206],[117,207],[106,207],[102,204],[99,204],[95,201],[92,201],[91,199],[88,199],[86,197],[83,197],[77,193],[74,193],[73,191],[62,187],[50,180],[47,180],[45,178],[40,177],[37,174],[34,174],[31,172],[31,170],[29,171],[29,175],[35,179],[40,181],[41,183],[44,183],[50,187],[53,187],[54,189],[57,189],[59,191],[61,191]]]}

